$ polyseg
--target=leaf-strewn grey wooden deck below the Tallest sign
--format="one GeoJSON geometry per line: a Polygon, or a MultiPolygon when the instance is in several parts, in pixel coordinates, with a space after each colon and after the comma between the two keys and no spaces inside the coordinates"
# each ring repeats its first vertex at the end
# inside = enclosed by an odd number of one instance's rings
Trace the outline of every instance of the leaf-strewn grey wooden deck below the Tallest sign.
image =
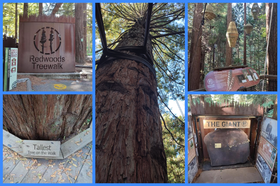
{"type": "Polygon", "coordinates": [[[92,183],[92,142],[64,160],[24,158],[3,146],[3,183],[92,183]]]}

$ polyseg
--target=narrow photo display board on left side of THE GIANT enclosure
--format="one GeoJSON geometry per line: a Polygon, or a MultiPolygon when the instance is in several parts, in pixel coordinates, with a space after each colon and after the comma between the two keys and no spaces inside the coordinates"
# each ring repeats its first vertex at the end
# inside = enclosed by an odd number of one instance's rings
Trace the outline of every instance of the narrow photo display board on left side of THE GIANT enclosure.
{"type": "Polygon", "coordinates": [[[190,116],[188,116],[188,183],[191,183],[198,171],[197,157],[195,153],[195,141],[190,116]]]}

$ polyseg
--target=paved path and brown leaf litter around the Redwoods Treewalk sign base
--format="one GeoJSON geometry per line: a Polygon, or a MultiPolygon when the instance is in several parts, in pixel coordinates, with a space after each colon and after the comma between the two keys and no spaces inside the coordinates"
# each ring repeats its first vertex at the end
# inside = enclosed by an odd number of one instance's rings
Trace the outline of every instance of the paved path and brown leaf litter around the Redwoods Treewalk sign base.
{"type": "MultiPolygon", "coordinates": [[[[81,64],[76,64],[81,65],[81,64]]],[[[92,62],[82,64],[92,66],[92,62]]],[[[76,72],[81,76],[80,79],[44,79],[30,75],[17,75],[17,79],[29,78],[33,91],[92,91],[92,68],[76,67],[76,72]]],[[[10,90],[27,91],[26,82],[17,83],[17,87],[10,90]]]]}

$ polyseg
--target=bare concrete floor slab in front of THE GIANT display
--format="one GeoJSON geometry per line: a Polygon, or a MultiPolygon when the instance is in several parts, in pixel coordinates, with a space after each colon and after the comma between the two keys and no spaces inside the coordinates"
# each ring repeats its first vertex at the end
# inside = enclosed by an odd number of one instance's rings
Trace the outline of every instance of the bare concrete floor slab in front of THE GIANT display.
{"type": "Polygon", "coordinates": [[[252,183],[262,181],[256,167],[203,171],[195,183],[252,183]]]}

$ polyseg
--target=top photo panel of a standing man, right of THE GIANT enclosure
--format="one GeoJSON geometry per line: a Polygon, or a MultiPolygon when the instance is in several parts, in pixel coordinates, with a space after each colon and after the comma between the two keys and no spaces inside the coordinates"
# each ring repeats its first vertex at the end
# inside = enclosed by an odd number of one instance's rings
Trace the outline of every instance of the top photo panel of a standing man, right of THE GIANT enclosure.
{"type": "Polygon", "coordinates": [[[263,117],[261,135],[277,149],[277,120],[263,117]]]}

